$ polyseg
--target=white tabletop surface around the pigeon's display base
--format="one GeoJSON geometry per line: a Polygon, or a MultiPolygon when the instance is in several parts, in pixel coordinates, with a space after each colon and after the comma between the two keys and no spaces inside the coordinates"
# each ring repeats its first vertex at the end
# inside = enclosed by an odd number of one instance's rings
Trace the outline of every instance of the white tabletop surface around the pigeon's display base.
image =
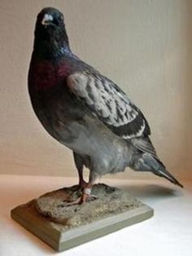
{"type": "MultiPolygon", "coordinates": [[[[101,182],[127,189],[150,205],[155,216],[59,255],[192,255],[192,183],[185,183],[182,190],[163,179],[101,182]]],[[[76,179],[63,177],[0,175],[0,255],[56,255],[54,249],[15,223],[10,211],[42,193],[74,183],[76,179]]]]}

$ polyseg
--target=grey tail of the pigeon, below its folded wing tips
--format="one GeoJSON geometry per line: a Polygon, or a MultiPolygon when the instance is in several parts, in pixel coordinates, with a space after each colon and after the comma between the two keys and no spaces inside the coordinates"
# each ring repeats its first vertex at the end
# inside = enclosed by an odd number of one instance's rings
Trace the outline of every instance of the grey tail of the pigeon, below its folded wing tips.
{"type": "Polygon", "coordinates": [[[142,156],[137,157],[137,161],[133,165],[134,170],[151,171],[153,174],[168,179],[171,183],[183,188],[183,185],[175,179],[172,174],[166,170],[165,166],[157,158],[151,156],[149,153],[143,153],[142,156]]]}

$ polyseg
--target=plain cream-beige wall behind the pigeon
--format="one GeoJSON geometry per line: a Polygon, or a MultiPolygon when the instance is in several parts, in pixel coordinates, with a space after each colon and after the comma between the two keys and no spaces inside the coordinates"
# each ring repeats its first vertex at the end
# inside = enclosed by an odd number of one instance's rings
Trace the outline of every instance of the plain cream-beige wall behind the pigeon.
{"type": "Polygon", "coordinates": [[[46,134],[28,98],[34,23],[47,6],[63,11],[73,51],[142,108],[172,174],[192,177],[191,0],[1,0],[0,173],[76,175],[72,153],[46,134]]]}

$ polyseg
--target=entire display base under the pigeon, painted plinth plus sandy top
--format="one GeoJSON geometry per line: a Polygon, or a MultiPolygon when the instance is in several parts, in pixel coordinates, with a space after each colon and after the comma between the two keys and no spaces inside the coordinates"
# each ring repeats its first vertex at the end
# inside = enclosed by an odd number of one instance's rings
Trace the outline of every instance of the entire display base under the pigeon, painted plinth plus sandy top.
{"type": "Polygon", "coordinates": [[[153,210],[129,192],[105,184],[92,190],[97,200],[67,206],[81,191],[77,186],[48,192],[11,210],[11,217],[57,251],[81,245],[100,236],[151,218],[153,210]]]}

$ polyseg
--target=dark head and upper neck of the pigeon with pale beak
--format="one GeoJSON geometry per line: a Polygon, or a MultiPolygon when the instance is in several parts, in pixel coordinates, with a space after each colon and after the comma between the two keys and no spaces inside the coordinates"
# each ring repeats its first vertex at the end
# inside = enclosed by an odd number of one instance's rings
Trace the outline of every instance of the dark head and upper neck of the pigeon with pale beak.
{"type": "Polygon", "coordinates": [[[59,10],[46,7],[37,15],[34,51],[46,59],[70,51],[63,14],[59,10]]]}

